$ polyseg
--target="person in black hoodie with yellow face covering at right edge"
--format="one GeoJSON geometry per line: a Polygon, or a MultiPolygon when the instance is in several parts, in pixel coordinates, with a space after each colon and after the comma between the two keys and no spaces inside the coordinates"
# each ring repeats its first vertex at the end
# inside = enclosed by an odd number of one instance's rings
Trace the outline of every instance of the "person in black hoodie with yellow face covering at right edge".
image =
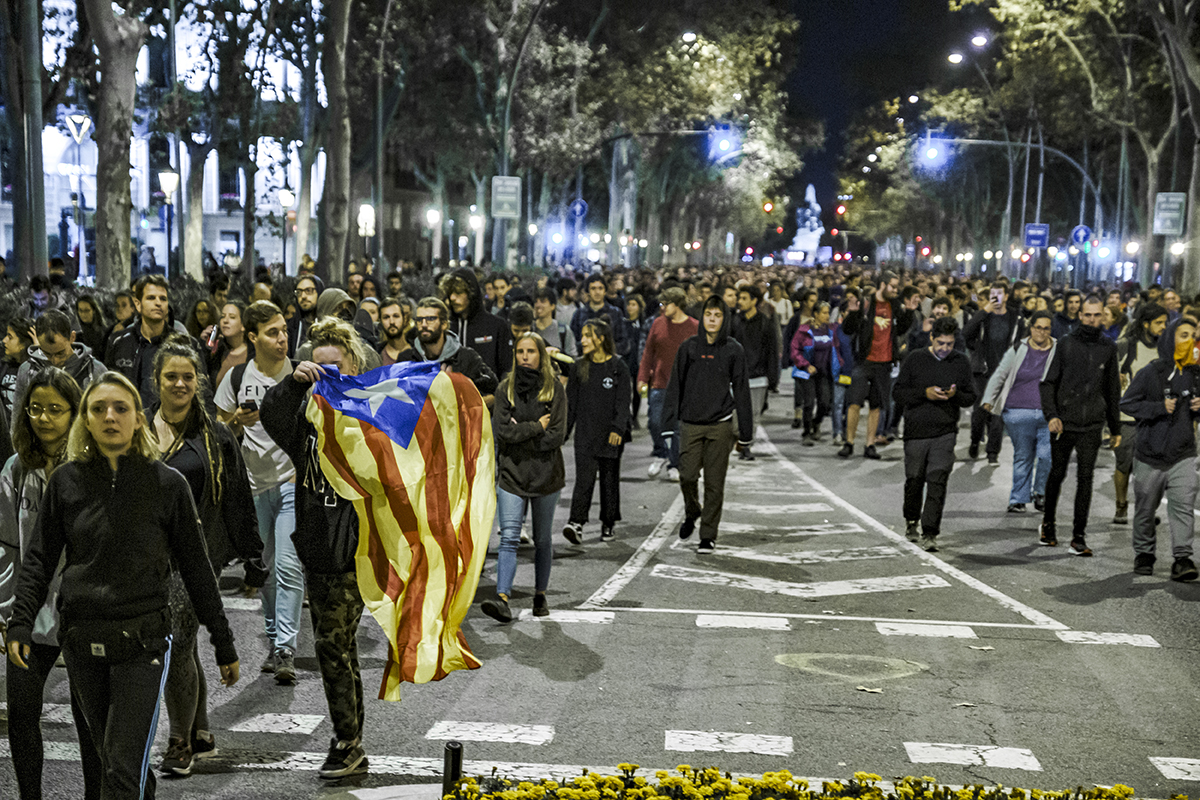
{"type": "Polygon", "coordinates": [[[1133,571],[1154,572],[1154,513],[1166,495],[1171,525],[1171,581],[1195,581],[1196,437],[1200,369],[1195,365],[1196,321],[1182,317],[1158,337],[1159,357],[1134,375],[1121,410],[1138,421],[1134,445],[1133,571]]]}

